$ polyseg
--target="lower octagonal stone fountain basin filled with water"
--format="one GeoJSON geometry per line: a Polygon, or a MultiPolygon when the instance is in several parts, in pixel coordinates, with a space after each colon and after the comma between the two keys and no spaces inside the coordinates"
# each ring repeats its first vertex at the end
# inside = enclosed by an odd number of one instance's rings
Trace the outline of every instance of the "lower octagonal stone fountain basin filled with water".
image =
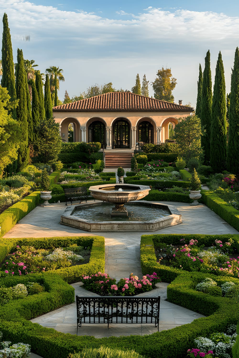
{"type": "Polygon", "coordinates": [[[180,224],[182,217],[173,205],[148,201],[126,204],[128,216],[111,216],[112,203],[94,202],[67,207],[61,224],[91,232],[156,231],[180,224]]]}

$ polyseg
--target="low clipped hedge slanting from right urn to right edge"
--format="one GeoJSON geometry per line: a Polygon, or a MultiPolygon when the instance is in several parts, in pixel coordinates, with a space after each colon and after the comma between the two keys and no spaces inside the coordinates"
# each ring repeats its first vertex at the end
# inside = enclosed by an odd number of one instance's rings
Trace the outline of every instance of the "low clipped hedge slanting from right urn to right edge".
{"type": "Polygon", "coordinates": [[[233,208],[230,204],[226,203],[215,193],[209,190],[201,191],[201,200],[207,205],[212,211],[218,214],[228,224],[239,231],[239,211],[233,208]]]}

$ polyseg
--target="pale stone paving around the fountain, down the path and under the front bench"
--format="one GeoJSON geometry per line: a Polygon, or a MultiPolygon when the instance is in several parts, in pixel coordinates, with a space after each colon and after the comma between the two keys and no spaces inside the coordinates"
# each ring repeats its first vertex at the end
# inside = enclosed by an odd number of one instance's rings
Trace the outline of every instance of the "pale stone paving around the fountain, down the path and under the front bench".
{"type": "MultiPolygon", "coordinates": [[[[166,203],[166,202],[162,202],[166,203]]],[[[198,234],[238,234],[234,228],[227,224],[218,215],[205,205],[190,206],[187,203],[167,202],[175,205],[182,213],[182,224],[161,229],[154,233],[198,233],[198,234]]],[[[61,213],[64,212],[63,203],[51,204],[47,207],[38,206],[27,216],[21,219],[4,237],[52,237],[52,236],[91,236],[105,237],[106,263],[105,272],[119,280],[128,277],[130,272],[141,276],[140,268],[140,236],[142,232],[114,232],[89,233],[76,228],[63,226],[59,223],[61,213]]],[[[152,232],[143,232],[152,234],[152,232]]],[[[85,291],[81,283],[72,285],[78,295],[92,295],[85,291]]],[[[167,284],[157,285],[157,289],[148,292],[148,295],[161,296],[159,330],[170,329],[185,323],[190,323],[202,315],[176,306],[165,301],[167,297],[167,284]]],[[[76,334],[76,305],[64,306],[58,310],[42,315],[32,320],[43,326],[53,327],[64,333],[76,334]]],[[[79,335],[94,335],[97,338],[121,336],[130,334],[150,334],[156,332],[150,325],[83,325],[79,335]]],[[[37,356],[32,356],[35,358],[37,356]]]]}

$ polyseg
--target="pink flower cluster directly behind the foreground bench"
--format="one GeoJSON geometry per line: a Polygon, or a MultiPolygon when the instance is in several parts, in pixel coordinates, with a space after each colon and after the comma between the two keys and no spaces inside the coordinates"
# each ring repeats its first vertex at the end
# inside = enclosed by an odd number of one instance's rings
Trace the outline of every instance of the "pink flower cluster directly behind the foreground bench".
{"type": "Polygon", "coordinates": [[[117,284],[116,279],[112,279],[102,272],[82,276],[84,288],[100,296],[135,296],[142,292],[151,291],[160,281],[156,272],[153,272],[152,275],[144,275],[141,280],[132,273],[129,277],[120,279],[117,284]]]}

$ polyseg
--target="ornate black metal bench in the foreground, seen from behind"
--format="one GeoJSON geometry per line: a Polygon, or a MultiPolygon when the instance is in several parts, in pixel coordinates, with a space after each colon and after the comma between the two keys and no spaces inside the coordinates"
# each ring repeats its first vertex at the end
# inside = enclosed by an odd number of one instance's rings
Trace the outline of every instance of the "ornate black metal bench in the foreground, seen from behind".
{"type": "Polygon", "coordinates": [[[154,323],[159,331],[158,297],[76,296],[77,334],[82,323],[154,323]]]}

